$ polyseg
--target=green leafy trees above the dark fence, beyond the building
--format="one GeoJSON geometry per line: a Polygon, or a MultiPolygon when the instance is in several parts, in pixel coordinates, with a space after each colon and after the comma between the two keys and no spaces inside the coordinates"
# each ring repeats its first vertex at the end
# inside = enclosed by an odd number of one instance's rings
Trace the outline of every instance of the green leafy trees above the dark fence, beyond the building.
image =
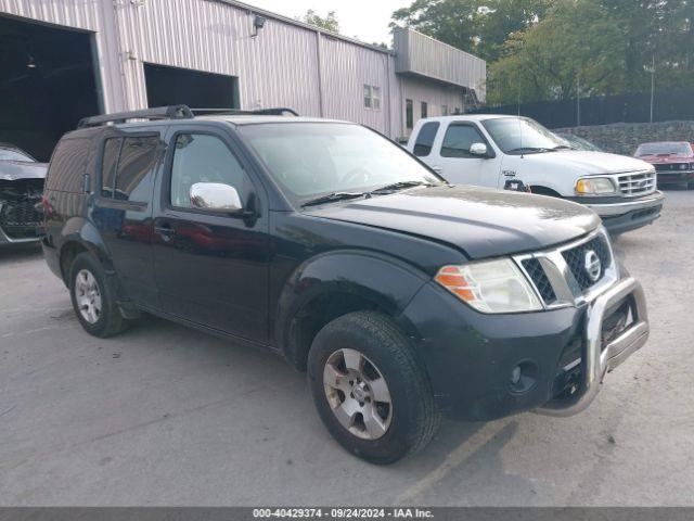
{"type": "Polygon", "coordinates": [[[488,62],[489,103],[694,88],[694,0],[416,0],[393,14],[488,62]]]}

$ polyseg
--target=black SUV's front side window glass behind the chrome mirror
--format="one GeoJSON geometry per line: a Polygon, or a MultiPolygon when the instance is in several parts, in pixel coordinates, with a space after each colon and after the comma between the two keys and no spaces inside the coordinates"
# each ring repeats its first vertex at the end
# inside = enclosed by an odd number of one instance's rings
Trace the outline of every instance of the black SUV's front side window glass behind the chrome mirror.
{"type": "Polygon", "coordinates": [[[171,206],[191,208],[191,187],[196,182],[234,187],[241,201],[250,191],[243,167],[223,141],[204,134],[180,134],[171,164],[171,206]]]}

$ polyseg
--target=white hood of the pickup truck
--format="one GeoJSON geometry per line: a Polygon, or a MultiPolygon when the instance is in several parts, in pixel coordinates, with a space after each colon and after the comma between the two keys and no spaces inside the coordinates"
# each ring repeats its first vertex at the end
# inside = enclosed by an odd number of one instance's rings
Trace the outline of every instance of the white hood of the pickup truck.
{"type": "Polygon", "coordinates": [[[621,174],[625,171],[648,170],[651,165],[645,161],[627,155],[591,152],[588,150],[557,150],[540,154],[525,154],[523,161],[528,166],[536,164],[561,166],[562,170],[578,173],[581,176],[591,174],[621,174]]]}

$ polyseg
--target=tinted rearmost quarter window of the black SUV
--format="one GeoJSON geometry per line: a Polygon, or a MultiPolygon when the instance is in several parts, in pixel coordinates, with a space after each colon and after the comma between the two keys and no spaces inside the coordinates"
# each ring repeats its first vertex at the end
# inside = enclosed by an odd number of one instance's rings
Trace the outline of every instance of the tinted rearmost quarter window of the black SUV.
{"type": "Polygon", "coordinates": [[[53,152],[46,188],[59,192],[81,193],[90,147],[90,138],[62,139],[53,152]]]}

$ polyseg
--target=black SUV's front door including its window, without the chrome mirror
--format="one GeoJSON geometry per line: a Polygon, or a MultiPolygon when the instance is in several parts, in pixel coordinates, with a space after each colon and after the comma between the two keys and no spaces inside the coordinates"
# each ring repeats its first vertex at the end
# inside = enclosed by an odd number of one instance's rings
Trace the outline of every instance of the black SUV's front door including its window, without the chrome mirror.
{"type": "Polygon", "coordinates": [[[164,312],[246,340],[268,339],[267,209],[253,218],[194,208],[191,187],[233,187],[258,207],[258,185],[217,127],[180,126],[167,138],[154,214],[154,271],[164,312]],[[256,201],[256,203],[254,203],[256,201]]]}

